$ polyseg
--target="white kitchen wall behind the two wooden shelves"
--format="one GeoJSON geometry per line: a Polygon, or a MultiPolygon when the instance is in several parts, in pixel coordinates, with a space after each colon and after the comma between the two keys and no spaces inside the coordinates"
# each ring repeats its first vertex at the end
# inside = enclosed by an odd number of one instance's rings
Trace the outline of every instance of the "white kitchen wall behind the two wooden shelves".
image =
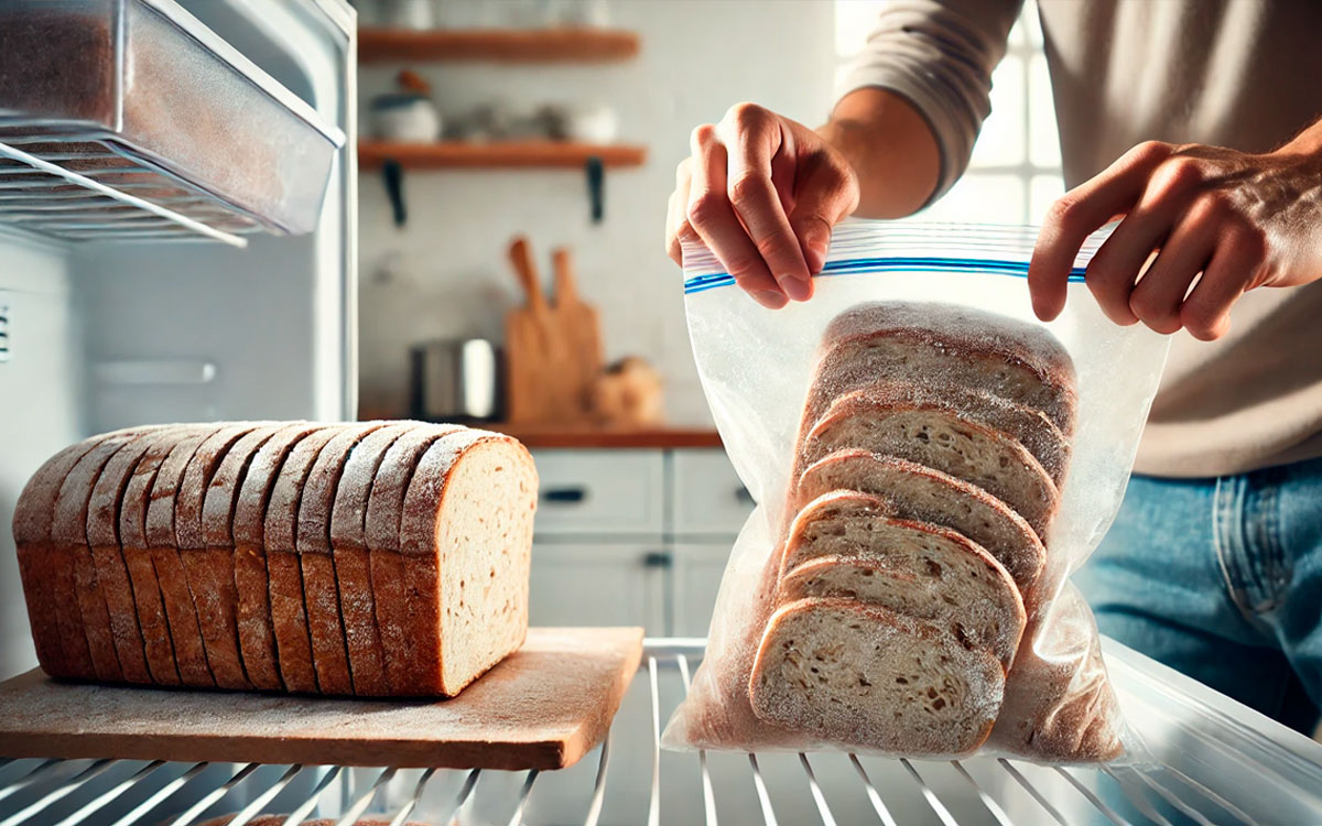
{"type": "MultiPolygon", "coordinates": [[[[442,0],[453,5],[453,0],[442,0]]],[[[602,311],[607,357],[642,356],[666,377],[673,423],[710,422],[683,322],[680,272],[662,248],[666,197],[689,132],[755,100],[816,124],[830,107],[836,66],[829,0],[613,0],[612,26],[641,34],[632,61],[588,66],[423,63],[412,69],[443,112],[490,99],[607,103],[620,137],[648,147],[637,169],[608,169],[605,221],[588,218],[574,170],[406,172],[408,223],[395,229],[379,176],[361,194],[360,387],[364,414],[401,414],[407,348],[428,337],[502,337],[522,300],[505,259],[529,235],[549,279],[550,250],[568,244],[580,289],[602,311]]],[[[370,13],[370,9],[369,9],[370,13]]],[[[360,102],[391,87],[399,66],[365,66],[360,102]]],[[[364,123],[366,131],[368,123],[364,123]]]]}

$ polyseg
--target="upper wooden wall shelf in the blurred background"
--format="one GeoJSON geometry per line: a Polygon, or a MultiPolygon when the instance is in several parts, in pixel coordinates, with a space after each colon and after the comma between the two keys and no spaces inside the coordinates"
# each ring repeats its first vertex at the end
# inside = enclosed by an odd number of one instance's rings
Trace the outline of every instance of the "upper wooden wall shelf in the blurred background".
{"type": "Polygon", "coordinates": [[[496,61],[504,63],[623,61],[639,53],[635,32],[591,28],[358,30],[358,62],[496,61]]]}

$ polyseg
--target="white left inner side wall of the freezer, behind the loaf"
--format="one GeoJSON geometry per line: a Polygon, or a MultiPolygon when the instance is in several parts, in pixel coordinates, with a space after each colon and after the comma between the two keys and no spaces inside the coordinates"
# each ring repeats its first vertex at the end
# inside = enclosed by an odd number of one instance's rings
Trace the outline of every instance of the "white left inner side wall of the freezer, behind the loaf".
{"type": "MultiPolygon", "coordinates": [[[[13,505],[28,477],[85,436],[82,348],[69,264],[56,247],[0,237],[0,308],[8,359],[0,359],[0,679],[37,665],[13,547],[13,505]]],[[[75,608],[77,609],[77,608],[75,608]]]]}

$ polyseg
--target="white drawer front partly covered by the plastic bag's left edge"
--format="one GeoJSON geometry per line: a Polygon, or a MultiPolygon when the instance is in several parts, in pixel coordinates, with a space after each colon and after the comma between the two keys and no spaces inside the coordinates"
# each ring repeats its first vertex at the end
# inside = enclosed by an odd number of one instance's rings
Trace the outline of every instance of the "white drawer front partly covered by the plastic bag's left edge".
{"type": "Polygon", "coordinates": [[[724,451],[672,452],[674,533],[734,535],[754,502],[724,451]]]}

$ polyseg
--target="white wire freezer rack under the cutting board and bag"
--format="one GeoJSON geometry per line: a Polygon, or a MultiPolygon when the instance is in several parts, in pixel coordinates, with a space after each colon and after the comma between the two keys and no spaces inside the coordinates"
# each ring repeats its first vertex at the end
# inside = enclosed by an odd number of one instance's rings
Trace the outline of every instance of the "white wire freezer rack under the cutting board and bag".
{"type": "Polygon", "coordinates": [[[1322,747],[1265,718],[1227,715],[1224,700],[1208,704],[1171,682],[1183,678],[1109,641],[1122,704],[1132,722],[1142,716],[1153,747],[1141,768],[661,751],[661,728],[701,657],[701,641],[649,640],[607,741],[562,772],[15,760],[0,765],[0,826],[188,826],[227,813],[241,826],[268,811],[291,825],[375,814],[393,826],[1322,823],[1322,747]],[[1153,686],[1161,696],[1149,695],[1153,686]],[[1145,696],[1169,712],[1150,716],[1145,696]],[[1212,743],[1195,736],[1207,720],[1225,727],[1203,732],[1212,743]]]}

